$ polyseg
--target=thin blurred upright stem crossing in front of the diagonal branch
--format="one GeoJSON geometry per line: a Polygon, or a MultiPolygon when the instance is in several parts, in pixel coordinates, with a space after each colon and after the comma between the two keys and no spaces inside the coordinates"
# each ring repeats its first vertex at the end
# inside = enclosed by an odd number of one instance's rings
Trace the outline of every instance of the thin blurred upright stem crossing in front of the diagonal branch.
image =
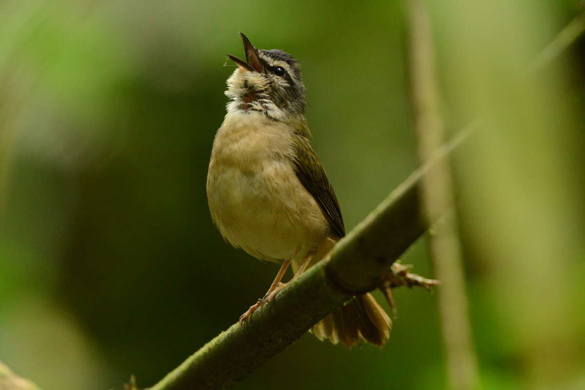
{"type": "MultiPolygon", "coordinates": [[[[431,20],[424,0],[411,0],[410,77],[414,127],[421,164],[432,158],[444,137],[439,110],[439,91],[435,76],[431,20]]],[[[439,161],[435,174],[424,177],[421,201],[424,217],[430,225],[452,203],[452,178],[446,161],[439,161]]],[[[429,249],[441,280],[438,303],[441,312],[443,344],[447,357],[449,387],[470,390],[479,386],[479,370],[467,313],[462,256],[456,219],[450,209],[436,233],[429,235],[429,249]]]]}

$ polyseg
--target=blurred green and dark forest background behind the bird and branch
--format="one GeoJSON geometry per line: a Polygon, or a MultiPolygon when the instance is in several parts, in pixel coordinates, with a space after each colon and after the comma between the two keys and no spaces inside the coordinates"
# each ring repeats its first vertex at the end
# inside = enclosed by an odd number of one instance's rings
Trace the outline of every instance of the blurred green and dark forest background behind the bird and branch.
{"type": "MultiPolygon", "coordinates": [[[[526,78],[573,0],[430,1],[487,389],[585,388],[585,40],[526,78]]],[[[205,177],[242,31],[301,61],[346,226],[416,168],[399,1],[0,2],[0,360],[43,389],[154,384],[277,267],[224,243],[205,177]]],[[[432,276],[424,241],[403,263],[432,276]]],[[[441,389],[435,296],[388,345],[305,335],[240,389],[441,389]]]]}

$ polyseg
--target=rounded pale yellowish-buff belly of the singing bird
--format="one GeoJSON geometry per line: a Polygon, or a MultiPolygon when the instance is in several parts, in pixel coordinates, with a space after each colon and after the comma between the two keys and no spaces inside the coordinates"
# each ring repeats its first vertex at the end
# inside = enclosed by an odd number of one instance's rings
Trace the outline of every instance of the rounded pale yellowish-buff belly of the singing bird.
{"type": "Polygon", "coordinates": [[[290,163],[257,170],[215,165],[209,208],[223,236],[263,260],[302,259],[328,234],[328,223],[290,163]]]}

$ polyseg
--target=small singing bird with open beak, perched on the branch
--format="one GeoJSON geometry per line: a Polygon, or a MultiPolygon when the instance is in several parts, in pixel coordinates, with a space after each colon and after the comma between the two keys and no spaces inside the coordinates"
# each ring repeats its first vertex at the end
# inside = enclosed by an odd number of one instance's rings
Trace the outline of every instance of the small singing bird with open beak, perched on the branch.
{"type": "MultiPolygon", "coordinates": [[[[223,238],[260,260],[281,264],[263,298],[240,325],[295,279],[324,259],[345,236],[345,226],[325,168],[311,146],[305,118],[305,85],[299,61],[283,50],[256,49],[240,33],[246,61],[227,80],[226,115],[209,161],[207,198],[223,238]]],[[[382,347],[391,320],[369,294],[353,297],[309,331],[347,347],[363,341],[382,347]]]]}

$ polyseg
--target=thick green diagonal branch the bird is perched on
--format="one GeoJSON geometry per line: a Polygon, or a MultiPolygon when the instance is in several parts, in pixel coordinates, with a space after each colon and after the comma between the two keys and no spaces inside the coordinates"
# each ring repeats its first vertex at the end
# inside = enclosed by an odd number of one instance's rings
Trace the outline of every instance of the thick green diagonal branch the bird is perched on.
{"type": "Polygon", "coordinates": [[[329,259],[300,275],[243,326],[232,325],[150,390],[219,389],[245,378],[353,295],[380,286],[391,266],[428,229],[419,214],[422,178],[469,134],[443,146],[355,229],[329,259]]]}

